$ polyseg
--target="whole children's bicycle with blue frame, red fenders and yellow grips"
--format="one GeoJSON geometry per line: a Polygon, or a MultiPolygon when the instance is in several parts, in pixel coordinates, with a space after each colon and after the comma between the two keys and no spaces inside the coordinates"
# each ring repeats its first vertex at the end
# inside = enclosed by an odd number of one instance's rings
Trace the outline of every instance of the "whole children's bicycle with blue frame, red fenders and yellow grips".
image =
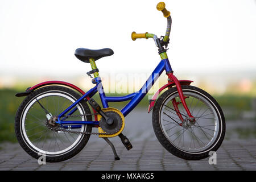
{"type": "Polygon", "coordinates": [[[88,92],[68,82],[46,81],[16,94],[17,97],[27,96],[16,112],[15,133],[20,146],[29,155],[36,159],[45,155],[47,162],[61,162],[78,154],[90,135],[98,135],[109,143],[115,160],[119,160],[108,138],[118,136],[127,150],[133,147],[122,134],[125,117],[139,104],[163,71],[166,71],[168,82],[154,94],[148,107],[148,113],[153,110],[152,126],[159,142],[171,154],[187,160],[207,158],[209,151],[220,147],[225,135],[221,107],[210,94],[191,86],[191,80],[177,80],[174,76],[166,53],[172,23],[170,11],[166,10],[164,2],[158,3],[156,9],[167,18],[166,35],[159,39],[148,32],[131,34],[133,40],[152,38],[161,58],[138,92],[127,96],[105,96],[95,61],[114,52],[110,48],[79,48],[75,56],[92,67],[87,74],[95,86],[88,92]],[[167,90],[159,96],[164,89],[167,90]],[[97,92],[102,106],[93,99],[97,92]],[[109,102],[129,100],[122,110],[108,105],[109,102]],[[93,127],[97,132],[92,132],[93,127]]]}

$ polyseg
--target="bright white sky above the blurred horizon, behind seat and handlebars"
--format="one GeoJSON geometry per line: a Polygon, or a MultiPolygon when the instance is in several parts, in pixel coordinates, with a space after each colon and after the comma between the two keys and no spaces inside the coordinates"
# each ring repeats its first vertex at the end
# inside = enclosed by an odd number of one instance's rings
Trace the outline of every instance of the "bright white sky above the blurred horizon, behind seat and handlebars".
{"type": "MultiPolygon", "coordinates": [[[[0,1],[0,76],[84,74],[90,65],[76,48],[112,48],[101,72],[148,72],[160,61],[152,39],[167,20],[158,1],[0,1]]],[[[256,1],[164,1],[171,11],[170,50],[175,72],[256,71],[256,1]]]]}

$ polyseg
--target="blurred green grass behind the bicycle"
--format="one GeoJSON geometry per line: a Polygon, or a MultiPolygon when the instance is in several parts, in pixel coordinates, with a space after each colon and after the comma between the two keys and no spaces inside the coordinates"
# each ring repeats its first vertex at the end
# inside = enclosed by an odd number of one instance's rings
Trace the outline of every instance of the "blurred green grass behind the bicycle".
{"type": "MultiPolygon", "coordinates": [[[[255,85],[255,83],[254,83],[255,85]]],[[[0,89],[0,142],[17,142],[14,133],[15,113],[20,103],[25,97],[15,97],[15,93],[23,92],[26,88],[2,88],[0,89]]],[[[255,89],[255,86],[254,86],[255,89]]],[[[224,110],[226,122],[240,122],[246,125],[246,122],[256,122],[256,98],[253,94],[236,93],[236,89],[230,86],[224,94],[213,94],[213,97],[224,110]],[[230,92],[232,90],[232,92],[230,92]]],[[[108,94],[109,96],[119,96],[121,94],[108,94]]],[[[137,108],[147,113],[148,97],[144,97],[137,108]]],[[[100,101],[98,94],[94,99],[100,101]]],[[[110,104],[110,106],[121,109],[126,102],[110,104]]],[[[235,127],[232,133],[236,132],[239,138],[256,137],[256,128],[253,127],[235,127]]]]}

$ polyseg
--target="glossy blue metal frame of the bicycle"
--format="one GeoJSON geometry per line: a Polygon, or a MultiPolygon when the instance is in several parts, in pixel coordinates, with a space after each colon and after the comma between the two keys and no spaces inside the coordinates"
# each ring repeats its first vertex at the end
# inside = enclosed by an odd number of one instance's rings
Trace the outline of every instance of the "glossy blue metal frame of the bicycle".
{"type": "MultiPolygon", "coordinates": [[[[158,79],[158,77],[162,74],[162,72],[166,70],[166,72],[172,71],[170,62],[168,59],[163,59],[160,61],[158,66],[155,68],[155,70],[152,72],[150,77],[147,79],[147,81],[144,83],[142,88],[138,92],[131,93],[127,96],[121,96],[121,97],[107,97],[105,96],[104,89],[102,86],[101,78],[97,77],[94,78],[96,80],[96,86],[94,88],[88,90],[82,97],[79,98],[76,102],[74,102],[71,106],[69,106],[67,109],[65,109],[61,114],[58,115],[58,121],[56,123],[59,123],[62,125],[71,125],[71,128],[79,128],[81,125],[98,125],[98,121],[65,121],[67,115],[72,115],[77,110],[76,105],[79,104],[82,100],[87,100],[86,97],[93,97],[94,94],[97,92],[100,94],[101,103],[104,108],[109,107],[108,102],[122,102],[131,100],[123,109],[121,110],[121,113],[125,117],[127,114],[130,113],[131,110],[136,107],[139,102],[143,99],[144,96],[148,93],[148,91],[151,89],[151,87],[154,85],[155,81],[158,79]],[[60,119],[63,117],[62,119],[60,119]]],[[[67,127],[67,126],[64,126],[67,127]]],[[[69,126],[70,127],[70,126],[69,126]]]]}

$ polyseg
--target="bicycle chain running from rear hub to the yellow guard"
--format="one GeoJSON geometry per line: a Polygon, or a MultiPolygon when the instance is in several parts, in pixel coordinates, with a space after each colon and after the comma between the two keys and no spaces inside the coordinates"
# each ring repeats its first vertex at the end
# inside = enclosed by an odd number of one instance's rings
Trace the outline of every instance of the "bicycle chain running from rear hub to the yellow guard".
{"type": "MultiPolygon", "coordinates": [[[[86,115],[97,115],[97,114],[79,114],[79,115],[66,115],[64,116],[64,118],[72,118],[72,117],[84,117],[86,115]]],[[[67,129],[63,129],[61,127],[56,127],[56,128],[51,128],[48,125],[46,125],[46,127],[49,130],[53,130],[53,131],[63,131],[63,132],[67,132],[67,133],[74,133],[74,134],[90,134],[90,135],[110,135],[111,133],[92,133],[92,132],[82,132],[82,131],[71,131],[71,130],[67,130],[67,129]]]]}

